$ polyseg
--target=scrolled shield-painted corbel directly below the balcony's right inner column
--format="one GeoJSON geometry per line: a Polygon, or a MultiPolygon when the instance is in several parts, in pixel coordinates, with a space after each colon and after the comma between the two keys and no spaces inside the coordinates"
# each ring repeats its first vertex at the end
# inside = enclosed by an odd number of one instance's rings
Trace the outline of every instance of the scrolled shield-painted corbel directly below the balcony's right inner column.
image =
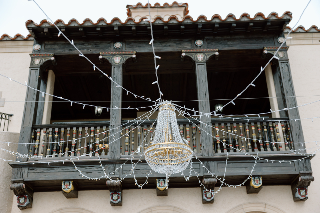
{"type": "Polygon", "coordinates": [[[214,202],[214,186],[217,183],[216,178],[204,175],[202,180],[201,195],[202,203],[213,203],[214,202]],[[207,189],[205,190],[204,187],[207,189]]]}

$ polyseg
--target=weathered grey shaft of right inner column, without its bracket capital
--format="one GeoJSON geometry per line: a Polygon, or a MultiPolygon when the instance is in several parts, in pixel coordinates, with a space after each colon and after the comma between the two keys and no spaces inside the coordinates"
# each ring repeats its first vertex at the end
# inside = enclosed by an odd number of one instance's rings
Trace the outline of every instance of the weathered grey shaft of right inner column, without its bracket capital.
{"type": "MultiPolygon", "coordinates": [[[[209,89],[208,89],[208,77],[206,63],[196,63],[196,83],[197,83],[197,94],[198,94],[198,106],[199,111],[203,113],[210,112],[209,103],[209,89]]],[[[212,126],[211,117],[203,115],[200,120],[203,123],[200,124],[201,130],[201,143],[202,143],[202,154],[203,156],[212,156],[212,126]],[[206,125],[207,124],[207,125],[206,125]],[[203,130],[205,130],[205,133],[203,130]]]]}

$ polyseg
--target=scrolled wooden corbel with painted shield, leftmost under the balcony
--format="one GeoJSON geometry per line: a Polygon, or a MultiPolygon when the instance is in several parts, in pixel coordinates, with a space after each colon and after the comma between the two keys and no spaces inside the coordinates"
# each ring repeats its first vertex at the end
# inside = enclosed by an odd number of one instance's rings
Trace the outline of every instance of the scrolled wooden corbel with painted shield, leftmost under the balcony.
{"type": "Polygon", "coordinates": [[[26,184],[23,179],[13,179],[11,181],[10,189],[13,194],[17,196],[18,208],[31,209],[33,201],[33,189],[26,184]]]}

